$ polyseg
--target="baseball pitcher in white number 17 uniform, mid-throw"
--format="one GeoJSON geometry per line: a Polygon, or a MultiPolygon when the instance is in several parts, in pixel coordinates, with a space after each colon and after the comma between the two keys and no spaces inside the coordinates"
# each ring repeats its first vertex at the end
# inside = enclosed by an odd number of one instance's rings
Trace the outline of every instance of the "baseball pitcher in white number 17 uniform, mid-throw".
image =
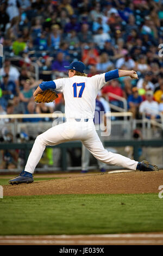
{"type": "Polygon", "coordinates": [[[136,72],[115,69],[104,74],[87,77],[84,73],[85,65],[82,62],[72,62],[65,68],[69,70],[68,78],[42,82],[35,90],[34,97],[37,98],[37,102],[45,102],[46,95],[42,92],[48,90],[49,101],[51,100],[49,90],[56,89],[62,92],[65,99],[66,123],[54,126],[36,137],[25,169],[16,178],[9,180],[9,183],[13,185],[33,182],[35,167],[46,146],[75,140],[80,140],[97,160],[106,164],[141,171],[158,170],[157,166],[149,164],[147,161],[137,162],[120,154],[108,152],[104,149],[93,123],[96,97],[105,82],[122,76],[134,79],[137,78],[136,72]],[[43,94],[42,100],[38,99],[40,93],[43,94]]]}

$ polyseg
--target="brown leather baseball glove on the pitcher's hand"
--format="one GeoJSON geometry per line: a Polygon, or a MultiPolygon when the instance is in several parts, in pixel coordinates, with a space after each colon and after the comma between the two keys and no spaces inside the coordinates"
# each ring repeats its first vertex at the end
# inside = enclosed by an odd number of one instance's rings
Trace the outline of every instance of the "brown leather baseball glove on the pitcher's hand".
{"type": "Polygon", "coordinates": [[[52,90],[45,90],[44,92],[38,93],[35,97],[35,102],[52,102],[58,98],[58,94],[53,92],[52,90]]]}

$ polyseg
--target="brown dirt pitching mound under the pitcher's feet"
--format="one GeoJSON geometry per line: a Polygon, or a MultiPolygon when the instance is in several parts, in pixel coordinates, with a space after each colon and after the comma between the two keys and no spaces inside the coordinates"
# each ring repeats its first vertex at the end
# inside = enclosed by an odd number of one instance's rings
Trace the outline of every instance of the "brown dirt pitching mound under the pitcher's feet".
{"type": "Polygon", "coordinates": [[[44,194],[135,194],[158,193],[163,171],[123,172],[70,176],[66,179],[36,181],[32,184],[4,186],[4,196],[44,194]]]}

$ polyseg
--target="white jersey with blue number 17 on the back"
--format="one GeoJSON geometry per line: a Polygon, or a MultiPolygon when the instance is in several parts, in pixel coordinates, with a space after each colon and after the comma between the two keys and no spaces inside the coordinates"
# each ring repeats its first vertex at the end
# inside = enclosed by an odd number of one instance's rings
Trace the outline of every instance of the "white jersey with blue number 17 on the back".
{"type": "Polygon", "coordinates": [[[54,82],[56,90],[64,94],[66,118],[94,118],[96,97],[105,84],[105,73],[59,78],[54,82]]]}

